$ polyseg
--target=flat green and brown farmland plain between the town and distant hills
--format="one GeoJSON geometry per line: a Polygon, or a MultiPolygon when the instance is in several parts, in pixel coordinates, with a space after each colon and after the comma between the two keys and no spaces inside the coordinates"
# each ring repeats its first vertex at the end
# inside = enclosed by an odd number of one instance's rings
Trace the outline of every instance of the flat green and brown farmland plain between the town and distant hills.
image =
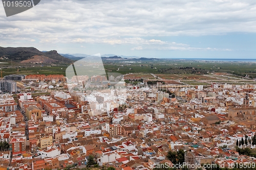
{"type": "MultiPolygon", "coordinates": [[[[256,84],[256,63],[220,62],[199,60],[148,59],[138,60],[103,60],[106,72],[119,72],[126,79],[147,81],[172,80],[184,85],[210,85],[215,83],[256,84]]],[[[2,76],[19,75],[65,75],[69,65],[47,64],[1,64],[2,76]]],[[[86,69],[86,67],[85,67],[86,69]]],[[[66,76],[66,75],[65,75],[66,76]]]]}

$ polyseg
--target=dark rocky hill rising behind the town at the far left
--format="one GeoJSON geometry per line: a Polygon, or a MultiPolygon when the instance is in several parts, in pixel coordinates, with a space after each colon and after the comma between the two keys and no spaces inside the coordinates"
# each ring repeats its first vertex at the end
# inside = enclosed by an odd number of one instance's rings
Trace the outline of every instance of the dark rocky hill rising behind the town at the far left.
{"type": "Polygon", "coordinates": [[[16,62],[22,62],[25,60],[27,60],[28,62],[29,61],[34,62],[34,61],[37,61],[39,58],[40,58],[40,63],[48,63],[48,62],[72,63],[73,62],[73,60],[59,55],[55,50],[52,50],[49,52],[41,52],[37,50],[35,47],[1,47],[0,46],[0,58],[1,57],[4,59],[16,61],[16,62]]]}

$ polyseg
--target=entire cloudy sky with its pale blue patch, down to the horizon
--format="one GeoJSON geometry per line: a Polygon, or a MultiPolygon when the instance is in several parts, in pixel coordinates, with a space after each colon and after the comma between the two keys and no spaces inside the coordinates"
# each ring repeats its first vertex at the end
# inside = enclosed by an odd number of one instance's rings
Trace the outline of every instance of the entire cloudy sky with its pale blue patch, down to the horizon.
{"type": "Polygon", "coordinates": [[[58,53],[256,59],[255,0],[48,1],[6,17],[0,46],[58,53]]]}

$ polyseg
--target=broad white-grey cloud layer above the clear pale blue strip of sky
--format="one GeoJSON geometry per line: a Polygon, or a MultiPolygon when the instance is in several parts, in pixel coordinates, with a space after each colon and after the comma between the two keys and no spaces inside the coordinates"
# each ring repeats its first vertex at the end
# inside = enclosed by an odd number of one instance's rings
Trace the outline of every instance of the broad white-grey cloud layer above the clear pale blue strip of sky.
{"type": "Polygon", "coordinates": [[[132,44],[134,50],[201,50],[160,39],[255,33],[255,9],[252,0],[41,1],[11,17],[1,6],[0,38],[2,43],[36,38],[40,43],[132,44]]]}

